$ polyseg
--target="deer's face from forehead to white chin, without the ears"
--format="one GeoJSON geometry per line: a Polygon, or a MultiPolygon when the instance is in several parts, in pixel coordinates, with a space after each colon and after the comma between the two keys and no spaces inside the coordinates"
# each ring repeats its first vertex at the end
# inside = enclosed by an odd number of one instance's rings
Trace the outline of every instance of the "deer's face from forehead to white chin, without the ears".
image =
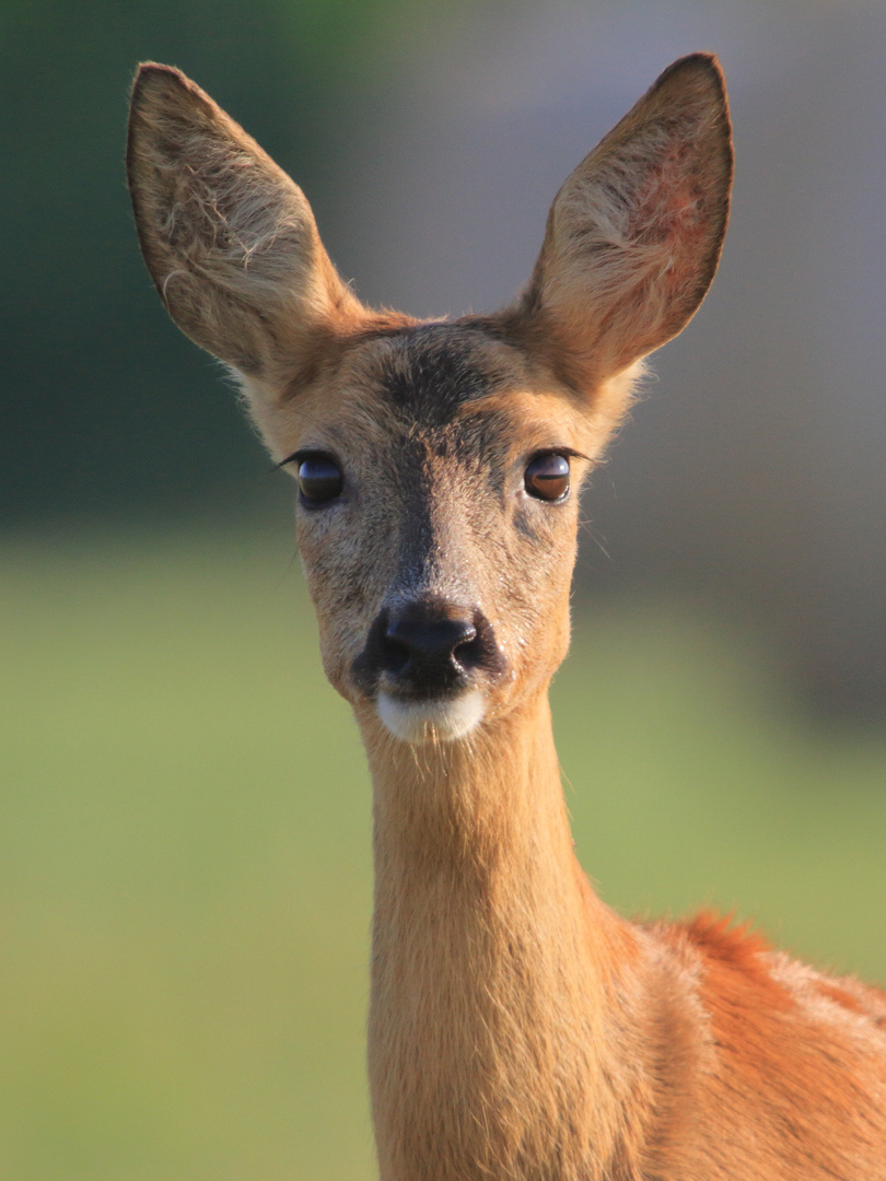
{"type": "Polygon", "coordinates": [[[562,659],[593,442],[573,402],[482,325],[428,324],[346,346],[266,420],[327,676],[397,737],[460,737],[562,659]]]}

